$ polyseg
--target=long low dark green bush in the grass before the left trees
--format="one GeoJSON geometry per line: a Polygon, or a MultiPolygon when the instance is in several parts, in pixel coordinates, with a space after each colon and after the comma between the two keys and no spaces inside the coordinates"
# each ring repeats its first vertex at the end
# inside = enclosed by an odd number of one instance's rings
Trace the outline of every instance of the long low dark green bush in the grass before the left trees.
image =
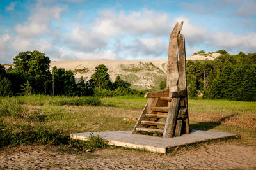
{"type": "Polygon", "coordinates": [[[76,98],[66,98],[66,99],[61,99],[60,101],[56,101],[53,104],[56,104],[58,106],[63,106],[63,105],[70,105],[70,106],[85,106],[85,105],[90,105],[90,106],[99,106],[102,104],[100,99],[98,97],[93,97],[93,96],[87,96],[87,97],[76,97],[76,98]]]}

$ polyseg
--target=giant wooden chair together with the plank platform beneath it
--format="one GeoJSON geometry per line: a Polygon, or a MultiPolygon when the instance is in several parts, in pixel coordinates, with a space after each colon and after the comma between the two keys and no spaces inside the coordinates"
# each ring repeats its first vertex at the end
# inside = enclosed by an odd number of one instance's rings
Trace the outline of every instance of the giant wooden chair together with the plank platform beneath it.
{"type": "MultiPolygon", "coordinates": [[[[158,153],[166,153],[168,149],[177,146],[237,136],[199,130],[189,133],[185,43],[184,36],[180,34],[182,25],[183,22],[177,22],[170,36],[166,89],[145,94],[149,98],[148,102],[132,131],[93,132],[95,136],[106,139],[109,145],[158,153]],[[138,132],[156,136],[141,135],[138,132]],[[181,136],[184,133],[186,135],[181,136]]],[[[70,138],[86,141],[90,134],[70,134],[70,138]]]]}

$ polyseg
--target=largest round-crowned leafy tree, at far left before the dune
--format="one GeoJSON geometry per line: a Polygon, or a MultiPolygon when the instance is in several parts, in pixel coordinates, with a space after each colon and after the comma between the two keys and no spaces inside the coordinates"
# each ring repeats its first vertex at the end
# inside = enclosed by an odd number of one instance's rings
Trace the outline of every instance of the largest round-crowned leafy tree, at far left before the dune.
{"type": "Polygon", "coordinates": [[[13,58],[15,70],[26,78],[35,93],[49,93],[50,59],[38,51],[20,52],[13,58]]]}

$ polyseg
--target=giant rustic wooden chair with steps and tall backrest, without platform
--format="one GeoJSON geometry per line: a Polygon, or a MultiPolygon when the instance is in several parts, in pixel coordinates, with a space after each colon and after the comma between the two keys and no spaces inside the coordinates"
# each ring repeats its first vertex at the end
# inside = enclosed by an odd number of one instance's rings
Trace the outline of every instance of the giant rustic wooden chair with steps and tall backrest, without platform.
{"type": "Polygon", "coordinates": [[[170,35],[166,88],[148,92],[149,98],[132,134],[157,134],[172,138],[189,134],[188,94],[186,85],[186,53],[183,21],[177,22],[170,35]],[[179,60],[178,60],[179,55],[179,60]]]}

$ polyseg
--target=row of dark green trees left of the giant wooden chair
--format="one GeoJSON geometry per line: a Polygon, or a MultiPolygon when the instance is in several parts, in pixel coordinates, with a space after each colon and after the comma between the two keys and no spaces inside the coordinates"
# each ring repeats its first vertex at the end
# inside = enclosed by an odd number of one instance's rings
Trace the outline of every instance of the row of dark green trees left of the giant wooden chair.
{"type": "Polygon", "coordinates": [[[101,64],[89,81],[81,77],[78,83],[74,73],[63,68],[50,70],[49,57],[38,51],[20,52],[13,58],[14,68],[0,65],[0,96],[51,94],[65,96],[124,96],[143,95],[145,91],[131,89],[129,83],[116,77],[112,83],[108,68],[101,64]]]}

